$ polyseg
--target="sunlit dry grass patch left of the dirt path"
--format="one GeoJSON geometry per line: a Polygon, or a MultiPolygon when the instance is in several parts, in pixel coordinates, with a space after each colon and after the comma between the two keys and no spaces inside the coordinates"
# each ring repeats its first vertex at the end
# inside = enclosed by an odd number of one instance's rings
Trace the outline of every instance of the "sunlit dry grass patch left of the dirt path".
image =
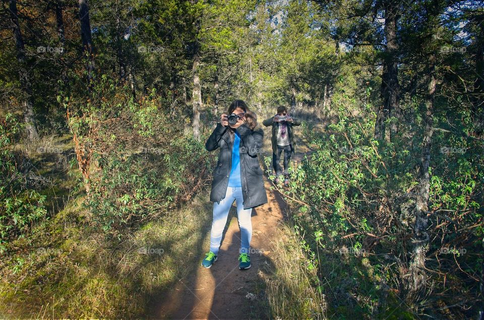
{"type": "Polygon", "coordinates": [[[82,225],[81,199],[12,243],[0,262],[0,317],[140,317],[191,272],[209,220],[207,195],[121,243],[82,225]],[[35,244],[35,246],[31,246],[35,244]]]}

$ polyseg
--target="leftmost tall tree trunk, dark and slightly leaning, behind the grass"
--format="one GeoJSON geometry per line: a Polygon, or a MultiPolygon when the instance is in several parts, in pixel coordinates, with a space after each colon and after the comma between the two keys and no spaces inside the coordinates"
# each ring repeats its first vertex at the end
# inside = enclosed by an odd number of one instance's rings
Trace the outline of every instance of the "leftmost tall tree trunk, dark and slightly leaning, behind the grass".
{"type": "Polygon", "coordinates": [[[20,30],[20,24],[17,16],[17,2],[16,0],[10,0],[10,19],[12,24],[12,30],[14,33],[15,45],[17,47],[17,61],[19,62],[19,79],[20,86],[25,94],[24,105],[24,122],[27,139],[32,141],[39,137],[37,131],[37,125],[34,118],[34,107],[32,105],[32,88],[30,87],[30,77],[27,72],[27,66],[25,61],[25,46],[22,38],[22,31],[20,30]]]}

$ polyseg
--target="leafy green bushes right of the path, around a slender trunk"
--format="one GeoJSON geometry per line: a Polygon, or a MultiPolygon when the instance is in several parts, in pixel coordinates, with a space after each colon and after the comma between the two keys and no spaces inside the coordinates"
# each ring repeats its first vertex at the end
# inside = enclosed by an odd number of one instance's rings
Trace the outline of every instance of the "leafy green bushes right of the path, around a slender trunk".
{"type": "MultiPolygon", "coordinates": [[[[411,281],[406,274],[415,203],[404,195],[418,185],[422,132],[402,128],[397,142],[387,143],[373,139],[373,128],[370,120],[340,114],[325,134],[308,132],[313,135],[311,160],[290,169],[291,188],[285,191],[299,204],[295,231],[307,253],[306,267],[319,270],[314,285],[338,283],[331,290],[343,296],[333,295],[330,306],[343,312],[339,307],[344,305],[348,316],[396,307],[407,298],[405,283],[411,281]],[[356,280],[341,282],[341,277],[356,280]]],[[[482,265],[481,150],[482,141],[462,134],[433,137],[427,268],[434,270],[428,274],[432,290],[448,304],[456,303],[458,295],[471,301],[469,292],[478,290],[472,279],[479,279],[482,265]],[[441,294],[449,287],[454,294],[441,294]]],[[[425,303],[422,308],[432,312],[439,304],[425,303]]]]}

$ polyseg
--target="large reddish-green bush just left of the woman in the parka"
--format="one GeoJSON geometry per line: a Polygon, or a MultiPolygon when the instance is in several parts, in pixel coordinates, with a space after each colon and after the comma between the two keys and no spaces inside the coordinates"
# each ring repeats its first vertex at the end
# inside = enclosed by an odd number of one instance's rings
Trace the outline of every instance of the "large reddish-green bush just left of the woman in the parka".
{"type": "Polygon", "coordinates": [[[64,101],[83,152],[78,159],[89,169],[87,208],[98,226],[120,238],[134,223],[190,200],[211,155],[185,134],[181,111],[170,110],[155,90],[135,101],[129,88],[103,75],[91,95],[87,105],[82,96],[64,101]]]}

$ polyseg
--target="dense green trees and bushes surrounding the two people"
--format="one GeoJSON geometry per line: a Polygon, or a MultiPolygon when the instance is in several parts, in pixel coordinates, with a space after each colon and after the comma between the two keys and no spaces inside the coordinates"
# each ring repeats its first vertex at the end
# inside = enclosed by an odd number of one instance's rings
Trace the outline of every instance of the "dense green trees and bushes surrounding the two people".
{"type": "Polygon", "coordinates": [[[33,157],[65,183],[35,141],[66,138],[77,185],[63,202],[120,242],[210,185],[205,139],[243,99],[259,122],[279,105],[304,120],[311,150],[280,191],[328,316],[482,316],[483,7],[4,2],[0,250],[64,208],[31,183],[33,157]]]}

